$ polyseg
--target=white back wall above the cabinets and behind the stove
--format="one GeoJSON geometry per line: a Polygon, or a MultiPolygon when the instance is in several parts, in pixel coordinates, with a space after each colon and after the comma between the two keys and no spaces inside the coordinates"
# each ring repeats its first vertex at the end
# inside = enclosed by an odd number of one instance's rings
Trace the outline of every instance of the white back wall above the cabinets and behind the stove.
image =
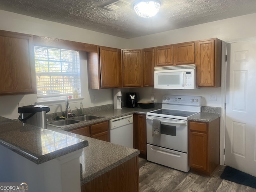
{"type": "MultiPolygon", "coordinates": [[[[219,38],[230,42],[256,37],[256,13],[244,16],[209,22],[177,30],[129,39],[129,48],[148,48],[161,45],[189,42],[208,38],[219,38]]],[[[157,90],[154,88],[132,89],[140,94],[141,99],[150,100],[155,92],[156,101],[161,102],[164,94],[202,96],[203,106],[221,106],[221,88],[201,88],[198,90],[157,90]],[[209,94],[216,94],[217,101],[210,101],[209,94]]]]}

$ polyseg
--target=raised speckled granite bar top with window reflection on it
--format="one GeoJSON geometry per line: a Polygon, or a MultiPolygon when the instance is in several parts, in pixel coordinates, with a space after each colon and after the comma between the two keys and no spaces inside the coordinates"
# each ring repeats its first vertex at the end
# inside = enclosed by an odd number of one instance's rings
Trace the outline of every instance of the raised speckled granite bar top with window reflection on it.
{"type": "Polygon", "coordinates": [[[42,164],[88,146],[88,141],[0,116],[0,144],[42,164]]]}

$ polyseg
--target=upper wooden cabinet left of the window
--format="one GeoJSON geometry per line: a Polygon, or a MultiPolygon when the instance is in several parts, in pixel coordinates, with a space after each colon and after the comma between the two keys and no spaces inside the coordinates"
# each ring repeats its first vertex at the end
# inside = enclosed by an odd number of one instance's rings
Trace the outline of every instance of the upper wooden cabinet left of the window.
{"type": "Polygon", "coordinates": [[[0,95],[35,94],[32,36],[0,30],[0,95]]]}

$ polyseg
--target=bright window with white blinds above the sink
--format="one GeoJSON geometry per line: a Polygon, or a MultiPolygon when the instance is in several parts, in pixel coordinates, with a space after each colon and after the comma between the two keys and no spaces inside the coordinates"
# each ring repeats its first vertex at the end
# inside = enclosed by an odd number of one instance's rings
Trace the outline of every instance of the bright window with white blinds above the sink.
{"type": "Polygon", "coordinates": [[[34,46],[38,98],[81,94],[79,52],[34,46]]]}

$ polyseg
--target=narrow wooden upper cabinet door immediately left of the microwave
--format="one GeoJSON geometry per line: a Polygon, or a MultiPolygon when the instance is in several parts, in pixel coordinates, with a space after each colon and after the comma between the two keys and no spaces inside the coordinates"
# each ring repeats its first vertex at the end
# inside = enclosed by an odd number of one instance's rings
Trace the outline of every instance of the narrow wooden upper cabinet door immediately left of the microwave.
{"type": "Polygon", "coordinates": [[[154,48],[143,49],[143,86],[154,86],[154,48]]]}

